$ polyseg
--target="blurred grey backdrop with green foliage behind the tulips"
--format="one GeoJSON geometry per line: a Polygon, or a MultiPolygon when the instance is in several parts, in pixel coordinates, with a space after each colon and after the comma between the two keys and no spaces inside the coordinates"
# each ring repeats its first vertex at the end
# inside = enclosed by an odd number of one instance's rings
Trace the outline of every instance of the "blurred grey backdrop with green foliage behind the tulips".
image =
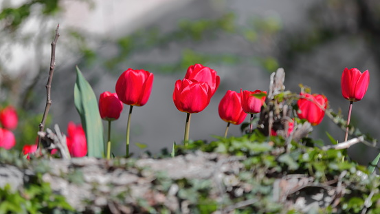
{"type": "MultiPolygon", "coordinates": [[[[34,143],[41,122],[58,23],[47,127],[58,124],[65,132],[69,121],[80,123],[74,106],[75,65],[96,96],[115,92],[117,78],[129,67],[155,74],[148,103],[133,109],[135,156],[144,151],[136,142],[157,153],[183,140],[186,114],[176,109],[172,92],[189,65],[202,63],[221,76],[210,105],[192,116],[190,138],[208,141],[223,136],[227,125],[217,110],[225,92],[267,90],[269,75],[278,67],[285,69],[287,89],[298,93],[300,83],[309,86],[346,118],[349,102],[342,97],[340,78],[344,67],[357,67],[370,71],[370,86],[364,99],[354,103],[351,124],[380,137],[379,1],[0,0],[0,102],[19,110],[18,148],[34,143]]],[[[124,105],[113,122],[116,156],[125,151],[127,111],[124,105]]],[[[344,140],[344,132],[325,116],[312,136],[329,143],[326,132],[344,140]]],[[[232,125],[229,135],[240,136],[240,126],[232,125]]],[[[357,145],[348,153],[367,164],[379,150],[357,145]]]]}

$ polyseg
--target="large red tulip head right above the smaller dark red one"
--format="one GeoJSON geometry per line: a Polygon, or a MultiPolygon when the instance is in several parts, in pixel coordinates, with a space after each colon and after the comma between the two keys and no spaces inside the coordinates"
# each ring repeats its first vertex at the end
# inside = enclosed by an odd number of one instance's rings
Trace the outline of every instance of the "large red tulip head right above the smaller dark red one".
{"type": "Polygon", "coordinates": [[[143,106],[148,102],[153,85],[153,74],[143,69],[127,69],[116,82],[115,90],[126,105],[143,106]]]}

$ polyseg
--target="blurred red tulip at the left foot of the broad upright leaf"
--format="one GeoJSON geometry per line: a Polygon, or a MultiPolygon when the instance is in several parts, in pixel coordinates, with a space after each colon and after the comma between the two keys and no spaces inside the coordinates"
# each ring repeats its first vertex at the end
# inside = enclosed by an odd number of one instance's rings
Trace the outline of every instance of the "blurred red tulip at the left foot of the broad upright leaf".
{"type": "MultiPolygon", "coordinates": [[[[82,125],[75,125],[69,122],[67,126],[67,148],[71,157],[83,157],[87,154],[87,140],[82,125]]],[[[100,145],[102,147],[102,145],[100,145]]]]}

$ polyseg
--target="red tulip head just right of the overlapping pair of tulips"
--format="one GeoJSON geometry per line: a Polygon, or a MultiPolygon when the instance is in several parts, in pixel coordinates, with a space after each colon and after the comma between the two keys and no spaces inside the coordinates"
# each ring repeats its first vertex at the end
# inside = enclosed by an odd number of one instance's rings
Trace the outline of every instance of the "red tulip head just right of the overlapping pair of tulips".
{"type": "Polygon", "coordinates": [[[225,122],[239,125],[247,114],[241,107],[241,95],[238,92],[228,90],[219,103],[219,116],[225,122]]]}

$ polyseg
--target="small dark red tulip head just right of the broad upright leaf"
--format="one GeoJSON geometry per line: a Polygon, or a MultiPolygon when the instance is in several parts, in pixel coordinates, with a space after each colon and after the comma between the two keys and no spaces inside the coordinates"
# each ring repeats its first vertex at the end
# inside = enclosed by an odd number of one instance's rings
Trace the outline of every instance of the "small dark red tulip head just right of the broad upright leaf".
{"type": "Polygon", "coordinates": [[[103,92],[99,98],[99,112],[103,120],[118,120],[123,110],[123,103],[118,94],[103,92]]]}

